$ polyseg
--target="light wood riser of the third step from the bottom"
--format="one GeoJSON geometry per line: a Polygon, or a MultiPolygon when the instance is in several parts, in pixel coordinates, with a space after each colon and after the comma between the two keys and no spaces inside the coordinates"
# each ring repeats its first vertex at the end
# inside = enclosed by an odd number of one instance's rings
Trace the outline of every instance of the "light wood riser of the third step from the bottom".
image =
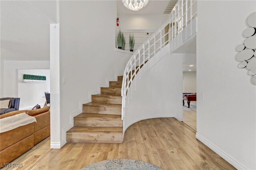
{"type": "Polygon", "coordinates": [[[101,113],[101,114],[110,114],[110,115],[121,115],[121,107],[104,107],[104,106],[88,106],[83,105],[84,113],[101,113]]]}

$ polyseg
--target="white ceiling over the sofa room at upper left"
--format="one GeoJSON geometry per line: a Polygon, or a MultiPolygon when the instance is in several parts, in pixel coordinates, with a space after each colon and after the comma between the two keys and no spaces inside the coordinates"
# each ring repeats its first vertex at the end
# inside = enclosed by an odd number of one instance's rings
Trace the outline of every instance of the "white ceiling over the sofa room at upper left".
{"type": "Polygon", "coordinates": [[[54,23],[52,18],[56,16],[43,12],[42,3],[48,11],[56,5],[56,1],[0,1],[1,60],[50,60],[49,24],[54,23]]]}

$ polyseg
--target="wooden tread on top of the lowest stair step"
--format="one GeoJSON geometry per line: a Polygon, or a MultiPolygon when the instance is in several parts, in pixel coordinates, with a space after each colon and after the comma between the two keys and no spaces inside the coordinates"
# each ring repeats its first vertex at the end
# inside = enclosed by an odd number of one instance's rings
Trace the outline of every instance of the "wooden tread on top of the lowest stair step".
{"type": "Polygon", "coordinates": [[[67,131],[68,133],[121,133],[122,127],[72,127],[67,131]]]}

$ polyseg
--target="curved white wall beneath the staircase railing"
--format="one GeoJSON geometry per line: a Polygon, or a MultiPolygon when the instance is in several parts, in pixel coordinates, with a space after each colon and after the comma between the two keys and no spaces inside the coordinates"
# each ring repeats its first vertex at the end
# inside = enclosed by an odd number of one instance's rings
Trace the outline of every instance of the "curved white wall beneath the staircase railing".
{"type": "MultiPolygon", "coordinates": [[[[148,63],[142,68],[147,70],[148,63]]],[[[136,79],[143,76],[140,81],[136,80],[139,82],[136,90],[132,87],[128,91],[127,96],[132,99],[126,100],[124,130],[143,119],[176,117],[182,120],[182,57],[169,53],[144,75],[143,72],[140,70],[136,76],[136,79]]],[[[132,83],[134,86],[135,81],[132,83]]]]}

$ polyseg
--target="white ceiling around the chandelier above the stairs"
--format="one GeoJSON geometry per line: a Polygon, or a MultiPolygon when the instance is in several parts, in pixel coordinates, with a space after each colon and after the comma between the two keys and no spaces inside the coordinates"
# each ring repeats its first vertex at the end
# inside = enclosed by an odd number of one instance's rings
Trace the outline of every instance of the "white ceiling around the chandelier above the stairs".
{"type": "Polygon", "coordinates": [[[122,0],[118,0],[117,14],[164,14],[169,2],[170,0],[148,0],[148,4],[144,8],[138,11],[132,11],[123,5],[122,0]]]}

